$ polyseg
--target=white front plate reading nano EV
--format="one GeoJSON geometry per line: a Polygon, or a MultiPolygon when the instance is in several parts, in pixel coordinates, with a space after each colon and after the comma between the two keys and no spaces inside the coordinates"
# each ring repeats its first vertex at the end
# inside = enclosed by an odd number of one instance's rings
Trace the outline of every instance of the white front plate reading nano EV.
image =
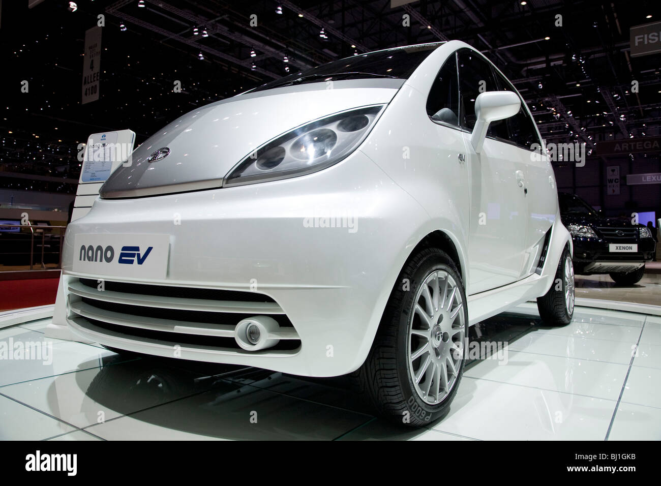
{"type": "Polygon", "coordinates": [[[165,278],[169,235],[75,235],[72,270],[98,278],[165,278]]]}

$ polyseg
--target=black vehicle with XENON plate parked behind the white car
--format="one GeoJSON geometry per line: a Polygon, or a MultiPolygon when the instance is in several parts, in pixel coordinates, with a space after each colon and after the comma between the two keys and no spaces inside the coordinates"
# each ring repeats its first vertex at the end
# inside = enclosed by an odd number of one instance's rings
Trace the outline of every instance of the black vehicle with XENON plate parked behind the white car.
{"type": "Polygon", "coordinates": [[[650,230],[627,221],[605,218],[575,194],[560,192],[560,215],[574,241],[574,272],[609,274],[615,282],[633,285],[641,280],[645,262],[652,260],[650,230]]]}

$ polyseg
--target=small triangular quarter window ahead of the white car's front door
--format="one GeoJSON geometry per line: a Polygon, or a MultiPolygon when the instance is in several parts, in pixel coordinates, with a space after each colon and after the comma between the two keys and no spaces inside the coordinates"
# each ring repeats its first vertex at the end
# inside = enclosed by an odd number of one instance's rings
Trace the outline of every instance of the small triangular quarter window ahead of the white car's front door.
{"type": "Polygon", "coordinates": [[[457,56],[452,54],[438,71],[427,97],[427,114],[434,120],[459,126],[457,56]]]}

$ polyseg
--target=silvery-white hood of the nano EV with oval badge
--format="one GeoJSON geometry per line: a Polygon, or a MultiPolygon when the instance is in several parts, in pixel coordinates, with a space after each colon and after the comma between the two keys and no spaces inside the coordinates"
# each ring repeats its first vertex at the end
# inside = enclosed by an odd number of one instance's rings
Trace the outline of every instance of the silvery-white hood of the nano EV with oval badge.
{"type": "Polygon", "coordinates": [[[350,108],[388,103],[401,79],[335,81],[290,86],[202,106],[141,143],[100,189],[102,198],[153,196],[217,188],[247,155],[311,120],[350,108]],[[147,158],[169,149],[166,157],[147,158]]]}

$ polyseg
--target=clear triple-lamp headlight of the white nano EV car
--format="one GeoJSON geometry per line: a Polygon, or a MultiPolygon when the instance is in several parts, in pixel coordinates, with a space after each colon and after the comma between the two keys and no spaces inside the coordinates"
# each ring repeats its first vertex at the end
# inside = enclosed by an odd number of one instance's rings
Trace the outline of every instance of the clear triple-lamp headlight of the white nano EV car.
{"type": "Polygon", "coordinates": [[[360,145],[383,106],[337,113],[278,136],[235,165],[223,186],[288,179],[330,167],[360,145]]]}

